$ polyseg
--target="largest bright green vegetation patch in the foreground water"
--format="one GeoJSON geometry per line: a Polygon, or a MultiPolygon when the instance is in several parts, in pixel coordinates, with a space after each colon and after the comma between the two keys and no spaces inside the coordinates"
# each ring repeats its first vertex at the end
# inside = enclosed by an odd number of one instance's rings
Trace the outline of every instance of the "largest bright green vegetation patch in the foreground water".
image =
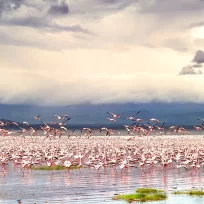
{"type": "Polygon", "coordinates": [[[113,197],[113,200],[125,200],[129,203],[133,201],[159,201],[165,200],[167,195],[162,190],[157,190],[153,188],[139,188],[134,194],[127,195],[116,195],[113,197]]]}

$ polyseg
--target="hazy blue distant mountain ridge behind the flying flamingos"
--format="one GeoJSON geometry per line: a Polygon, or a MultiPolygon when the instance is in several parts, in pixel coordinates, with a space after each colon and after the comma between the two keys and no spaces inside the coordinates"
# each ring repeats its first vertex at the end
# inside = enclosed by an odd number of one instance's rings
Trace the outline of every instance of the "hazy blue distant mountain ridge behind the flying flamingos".
{"type": "MultiPolygon", "coordinates": [[[[158,118],[168,124],[198,124],[198,118],[204,118],[204,104],[194,103],[141,103],[141,104],[103,104],[103,105],[70,105],[59,107],[43,107],[34,105],[8,105],[0,104],[0,117],[4,120],[27,121],[31,124],[39,123],[32,117],[41,115],[45,122],[54,120],[54,114],[67,114],[71,117],[68,124],[112,124],[106,118],[110,117],[107,111],[120,113],[123,117],[134,116],[138,110],[138,118],[148,120],[158,118]]],[[[130,124],[131,122],[118,119],[117,124],[130,124]]]]}

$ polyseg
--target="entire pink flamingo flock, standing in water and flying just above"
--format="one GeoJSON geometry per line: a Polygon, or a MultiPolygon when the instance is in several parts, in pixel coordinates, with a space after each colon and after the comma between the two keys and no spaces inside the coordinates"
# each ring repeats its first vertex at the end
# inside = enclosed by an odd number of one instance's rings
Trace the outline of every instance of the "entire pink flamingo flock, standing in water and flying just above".
{"type": "MultiPolygon", "coordinates": [[[[183,135],[187,130],[179,126],[165,128],[165,122],[160,123],[156,118],[141,124],[144,120],[136,118],[139,113],[125,118],[123,113],[107,112],[111,116],[107,119],[113,119],[110,121],[120,119],[133,122],[124,125],[128,137],[107,127],[84,127],[80,134],[76,134],[74,130],[69,130],[67,123],[71,117],[68,115],[54,115],[54,121],[50,123],[43,122],[40,115],[35,116],[33,119],[41,123],[35,129],[25,121],[0,121],[1,171],[5,174],[9,164],[13,165],[14,171],[21,169],[23,174],[33,166],[53,165],[62,165],[68,172],[73,166],[79,172],[86,167],[97,173],[110,168],[121,173],[134,168],[142,174],[153,170],[164,173],[177,170],[191,174],[204,171],[203,136],[165,137],[170,134],[183,135]]],[[[201,131],[204,122],[194,128],[201,131]]]]}

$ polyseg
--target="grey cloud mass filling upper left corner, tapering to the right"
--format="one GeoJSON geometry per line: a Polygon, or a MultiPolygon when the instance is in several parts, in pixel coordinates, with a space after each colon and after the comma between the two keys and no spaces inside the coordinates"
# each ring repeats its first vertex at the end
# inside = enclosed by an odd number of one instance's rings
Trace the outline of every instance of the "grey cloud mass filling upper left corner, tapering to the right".
{"type": "Polygon", "coordinates": [[[69,7],[66,0],[43,1],[31,3],[24,0],[8,0],[0,3],[2,26],[21,26],[44,30],[45,32],[81,32],[93,34],[79,24],[62,25],[56,23],[58,17],[68,15],[69,7]],[[40,8],[41,5],[41,8],[40,8]],[[8,11],[8,13],[7,13],[8,11]]]}

